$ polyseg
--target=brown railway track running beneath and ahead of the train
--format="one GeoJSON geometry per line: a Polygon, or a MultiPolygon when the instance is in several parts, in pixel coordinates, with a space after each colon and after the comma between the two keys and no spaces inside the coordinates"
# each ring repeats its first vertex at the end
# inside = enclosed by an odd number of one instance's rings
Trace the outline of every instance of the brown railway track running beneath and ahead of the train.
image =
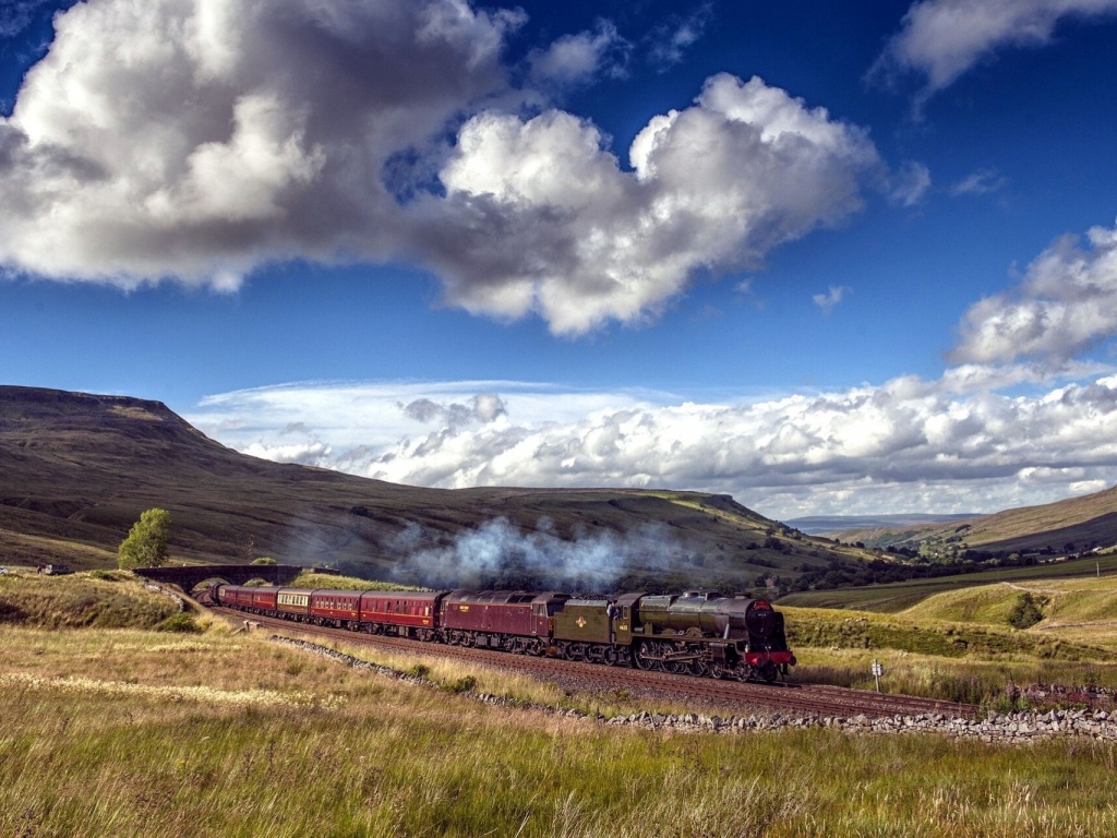
{"type": "MultiPolygon", "coordinates": [[[[245,620],[244,612],[225,608],[212,609],[214,613],[245,620]]],[[[251,616],[251,621],[278,634],[302,635],[319,639],[336,640],[356,646],[391,649],[408,655],[469,660],[486,666],[513,669],[536,678],[580,680],[598,688],[624,687],[636,691],[653,691],[669,694],[678,699],[701,701],[724,706],[731,713],[747,713],[765,708],[783,714],[879,718],[896,715],[939,714],[949,717],[973,718],[978,707],[973,704],[957,704],[917,696],[872,693],[863,689],[847,689],[820,684],[795,682],[777,684],[753,684],[735,680],[715,680],[690,675],[670,675],[660,672],[633,669],[627,666],[604,666],[550,657],[513,655],[493,649],[477,649],[443,644],[424,644],[399,637],[366,635],[345,629],[324,628],[296,623],[288,620],[251,616]]]]}

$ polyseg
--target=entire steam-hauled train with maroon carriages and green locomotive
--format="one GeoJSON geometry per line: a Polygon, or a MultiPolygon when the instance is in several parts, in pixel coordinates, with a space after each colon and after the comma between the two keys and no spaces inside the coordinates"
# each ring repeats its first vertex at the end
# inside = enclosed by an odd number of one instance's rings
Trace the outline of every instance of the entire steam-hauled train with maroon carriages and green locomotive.
{"type": "Polygon", "coordinates": [[[426,642],[713,678],[786,679],[783,613],[717,591],[572,597],[555,591],[354,591],[218,584],[238,611],[426,642]]]}

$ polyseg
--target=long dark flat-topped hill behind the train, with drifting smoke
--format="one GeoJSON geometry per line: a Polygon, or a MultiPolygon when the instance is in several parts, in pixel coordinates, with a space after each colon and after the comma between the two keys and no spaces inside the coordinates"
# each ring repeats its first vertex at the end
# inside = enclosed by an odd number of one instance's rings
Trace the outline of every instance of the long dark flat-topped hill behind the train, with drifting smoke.
{"type": "Polygon", "coordinates": [[[171,512],[176,561],[254,552],[401,581],[438,565],[515,583],[572,562],[602,584],[742,589],[860,555],[727,495],[400,486],[239,454],[155,401],[0,387],[0,562],[112,565],[152,506],[171,512]]]}

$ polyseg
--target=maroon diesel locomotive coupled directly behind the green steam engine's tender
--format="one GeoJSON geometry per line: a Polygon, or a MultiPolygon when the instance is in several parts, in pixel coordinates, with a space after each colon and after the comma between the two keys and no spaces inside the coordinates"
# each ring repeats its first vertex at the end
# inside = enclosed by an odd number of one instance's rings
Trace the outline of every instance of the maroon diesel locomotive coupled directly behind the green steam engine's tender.
{"type": "Polygon", "coordinates": [[[567,599],[555,592],[452,591],[442,599],[439,621],[449,644],[545,655],[551,619],[567,599]]]}

